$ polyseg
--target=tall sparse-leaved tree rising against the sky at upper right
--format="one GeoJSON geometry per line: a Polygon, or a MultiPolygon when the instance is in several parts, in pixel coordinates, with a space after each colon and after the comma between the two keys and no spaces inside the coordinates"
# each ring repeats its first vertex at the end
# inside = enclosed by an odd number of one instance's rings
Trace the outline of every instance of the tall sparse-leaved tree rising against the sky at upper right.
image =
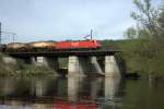
{"type": "Polygon", "coordinates": [[[157,16],[159,11],[151,4],[151,0],[134,0],[138,11],[131,13],[131,17],[136,20],[150,37],[159,36],[157,16]]]}

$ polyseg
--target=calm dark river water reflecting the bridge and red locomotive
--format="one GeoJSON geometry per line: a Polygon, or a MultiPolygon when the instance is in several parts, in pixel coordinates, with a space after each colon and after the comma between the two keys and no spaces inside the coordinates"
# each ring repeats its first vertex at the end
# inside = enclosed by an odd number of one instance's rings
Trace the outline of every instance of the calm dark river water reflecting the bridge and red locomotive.
{"type": "Polygon", "coordinates": [[[116,77],[1,77],[0,109],[164,109],[164,84],[116,77]]]}

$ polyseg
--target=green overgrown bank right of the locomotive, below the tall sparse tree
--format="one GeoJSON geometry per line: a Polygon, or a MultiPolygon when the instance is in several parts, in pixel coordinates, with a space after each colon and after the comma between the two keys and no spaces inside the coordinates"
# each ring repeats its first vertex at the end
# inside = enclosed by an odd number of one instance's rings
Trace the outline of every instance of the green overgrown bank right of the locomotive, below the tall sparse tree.
{"type": "MultiPolygon", "coordinates": [[[[162,40],[161,40],[162,41],[162,40]]],[[[162,43],[143,39],[102,40],[103,49],[122,50],[127,73],[164,78],[164,47],[162,43]]]]}

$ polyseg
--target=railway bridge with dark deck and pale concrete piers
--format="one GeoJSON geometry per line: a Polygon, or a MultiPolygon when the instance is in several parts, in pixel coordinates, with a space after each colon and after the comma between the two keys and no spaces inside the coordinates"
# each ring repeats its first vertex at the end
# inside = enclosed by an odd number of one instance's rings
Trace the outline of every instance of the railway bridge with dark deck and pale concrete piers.
{"type": "Polygon", "coordinates": [[[74,75],[104,75],[121,76],[124,63],[116,57],[120,50],[72,50],[72,51],[37,51],[37,52],[3,52],[4,62],[24,60],[30,64],[46,65],[59,70],[59,58],[67,59],[68,76],[74,75]],[[101,60],[101,61],[99,61],[101,60]]]}

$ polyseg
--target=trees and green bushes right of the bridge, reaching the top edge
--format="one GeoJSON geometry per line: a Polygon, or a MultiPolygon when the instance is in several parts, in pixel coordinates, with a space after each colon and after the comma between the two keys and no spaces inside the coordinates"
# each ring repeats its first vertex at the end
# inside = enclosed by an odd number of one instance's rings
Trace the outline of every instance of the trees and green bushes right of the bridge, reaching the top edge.
{"type": "Polygon", "coordinates": [[[129,72],[140,71],[148,74],[164,75],[164,5],[159,10],[153,8],[151,0],[133,0],[137,11],[131,17],[137,21],[136,38],[131,38],[131,29],[125,32],[126,45],[121,45],[124,58],[129,72]]]}

